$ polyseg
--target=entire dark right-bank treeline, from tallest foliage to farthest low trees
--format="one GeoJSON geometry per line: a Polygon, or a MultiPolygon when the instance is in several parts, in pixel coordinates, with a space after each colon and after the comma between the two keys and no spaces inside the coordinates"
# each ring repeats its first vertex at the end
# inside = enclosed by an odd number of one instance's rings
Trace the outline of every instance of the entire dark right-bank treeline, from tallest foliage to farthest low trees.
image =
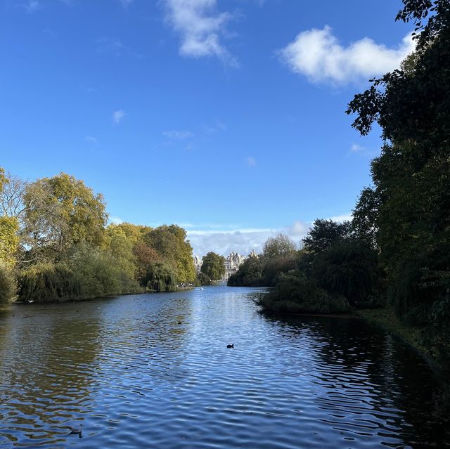
{"type": "MultiPolygon", "coordinates": [[[[385,301],[450,366],[450,4],[403,3],[397,20],[416,26],[416,50],[347,110],[362,135],[375,122],[383,130],[373,185],[361,192],[352,223],[316,221],[304,249],[277,262],[276,291],[263,305],[291,309],[286,301],[294,301],[307,310],[307,297],[317,308],[342,297],[349,306],[385,301]],[[324,228],[340,235],[332,245],[316,238],[324,228]]],[[[260,274],[267,285],[267,263],[264,256],[248,261],[231,282],[255,285],[260,274]]]]}

